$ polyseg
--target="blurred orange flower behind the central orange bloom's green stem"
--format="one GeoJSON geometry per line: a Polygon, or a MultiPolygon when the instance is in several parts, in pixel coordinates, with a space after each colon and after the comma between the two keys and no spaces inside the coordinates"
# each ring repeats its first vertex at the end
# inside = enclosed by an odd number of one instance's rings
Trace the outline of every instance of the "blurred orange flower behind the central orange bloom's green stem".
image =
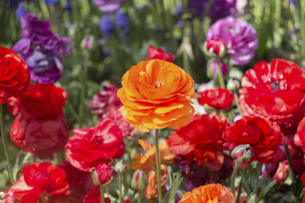
{"type": "MultiPolygon", "coordinates": [[[[139,140],[139,144],[142,146],[142,148],[145,151],[145,154],[143,156],[150,159],[150,161],[157,166],[156,164],[156,146],[148,142],[147,139],[139,140]]],[[[169,146],[166,140],[163,140],[163,142],[159,145],[159,149],[161,150],[161,163],[175,163],[174,158],[175,154],[172,154],[169,150],[169,146]]],[[[135,154],[135,159],[132,165],[130,166],[131,169],[134,170],[142,170],[145,173],[152,170],[152,165],[149,162],[149,160],[145,157],[143,157],[140,153],[135,154]]]]}

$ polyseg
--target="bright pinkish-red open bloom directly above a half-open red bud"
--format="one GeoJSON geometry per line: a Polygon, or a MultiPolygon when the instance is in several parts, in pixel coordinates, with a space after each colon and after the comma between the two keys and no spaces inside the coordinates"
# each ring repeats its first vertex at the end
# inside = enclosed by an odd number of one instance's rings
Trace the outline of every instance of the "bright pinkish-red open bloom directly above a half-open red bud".
{"type": "Polygon", "coordinates": [[[109,163],[110,158],[120,158],[125,144],[120,129],[113,120],[103,118],[92,128],[74,128],[75,135],[66,144],[66,159],[74,167],[91,171],[99,163],[109,163]]]}

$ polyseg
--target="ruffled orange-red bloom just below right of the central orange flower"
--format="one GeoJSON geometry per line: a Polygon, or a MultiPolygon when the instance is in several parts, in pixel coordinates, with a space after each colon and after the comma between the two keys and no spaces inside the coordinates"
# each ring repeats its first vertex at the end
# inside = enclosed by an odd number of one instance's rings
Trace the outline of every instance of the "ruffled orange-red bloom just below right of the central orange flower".
{"type": "Polygon", "coordinates": [[[227,125],[223,115],[193,115],[190,123],[170,132],[170,151],[184,155],[187,163],[194,160],[209,170],[220,170],[224,162],[222,133],[227,125]]]}

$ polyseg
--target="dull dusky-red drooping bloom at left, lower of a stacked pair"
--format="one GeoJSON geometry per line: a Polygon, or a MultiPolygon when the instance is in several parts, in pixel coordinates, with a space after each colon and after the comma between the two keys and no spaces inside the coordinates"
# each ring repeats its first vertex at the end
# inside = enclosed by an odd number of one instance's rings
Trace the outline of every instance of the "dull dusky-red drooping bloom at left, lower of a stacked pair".
{"type": "Polygon", "coordinates": [[[52,158],[66,145],[69,128],[63,117],[27,119],[18,115],[11,126],[13,143],[39,159],[52,158]]]}

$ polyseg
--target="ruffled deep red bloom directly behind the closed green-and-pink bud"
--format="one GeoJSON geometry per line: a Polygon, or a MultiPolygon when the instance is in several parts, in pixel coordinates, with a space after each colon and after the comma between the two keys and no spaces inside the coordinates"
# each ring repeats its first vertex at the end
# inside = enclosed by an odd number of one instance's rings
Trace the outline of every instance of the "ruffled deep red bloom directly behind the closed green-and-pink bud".
{"type": "Polygon", "coordinates": [[[224,147],[229,150],[249,144],[254,152],[251,161],[257,160],[260,163],[277,163],[271,158],[281,150],[279,146],[286,144],[279,126],[259,117],[244,117],[235,121],[224,130],[222,138],[226,141],[224,147]]]}

